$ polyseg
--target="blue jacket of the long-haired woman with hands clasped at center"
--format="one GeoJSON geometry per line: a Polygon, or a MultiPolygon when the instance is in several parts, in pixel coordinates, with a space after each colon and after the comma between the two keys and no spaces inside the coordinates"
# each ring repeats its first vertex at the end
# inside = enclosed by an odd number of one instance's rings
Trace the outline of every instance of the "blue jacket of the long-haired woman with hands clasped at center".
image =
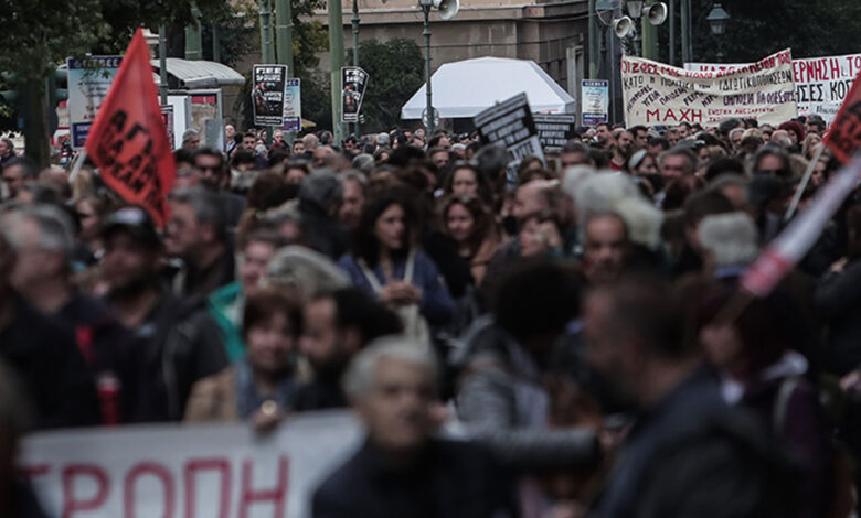
{"type": "MultiPolygon", "coordinates": [[[[373,287],[368,282],[368,279],[362,272],[362,268],[359,266],[358,258],[344,256],[338,261],[338,266],[343,269],[350,277],[350,281],[358,289],[376,296],[373,287]]],[[[389,283],[389,279],[385,279],[383,269],[378,265],[371,270],[380,285],[389,283]]],[[[392,277],[394,279],[403,279],[406,271],[406,260],[398,260],[394,262],[392,277]]],[[[415,267],[413,270],[413,284],[422,290],[422,301],[419,302],[419,310],[422,315],[427,319],[427,323],[434,326],[445,325],[451,320],[451,313],[454,303],[451,302],[451,295],[448,293],[448,289],[439,280],[439,272],[436,269],[436,265],[431,260],[425,252],[417,250],[415,252],[415,267]]]]}

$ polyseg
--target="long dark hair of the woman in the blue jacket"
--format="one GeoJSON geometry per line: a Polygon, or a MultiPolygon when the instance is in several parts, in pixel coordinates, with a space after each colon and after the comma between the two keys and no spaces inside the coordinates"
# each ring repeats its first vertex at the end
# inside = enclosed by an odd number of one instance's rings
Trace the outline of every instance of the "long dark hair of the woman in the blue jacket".
{"type": "Polygon", "coordinates": [[[416,226],[413,205],[406,202],[398,191],[382,194],[370,199],[362,208],[362,217],[359,227],[353,234],[353,255],[357,259],[364,259],[369,268],[375,268],[380,262],[380,240],[376,238],[376,220],[391,206],[397,205],[404,211],[404,246],[400,250],[392,250],[393,259],[404,259],[410,253],[412,239],[416,226]]]}

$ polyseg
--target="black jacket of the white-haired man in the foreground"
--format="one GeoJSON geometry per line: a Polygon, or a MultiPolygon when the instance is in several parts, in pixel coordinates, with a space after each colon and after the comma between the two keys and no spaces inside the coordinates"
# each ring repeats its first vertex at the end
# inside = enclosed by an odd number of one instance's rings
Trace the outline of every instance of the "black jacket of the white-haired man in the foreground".
{"type": "Polygon", "coordinates": [[[313,495],[315,518],[503,518],[517,516],[515,490],[488,452],[433,440],[421,460],[390,470],[370,443],[313,495]]]}

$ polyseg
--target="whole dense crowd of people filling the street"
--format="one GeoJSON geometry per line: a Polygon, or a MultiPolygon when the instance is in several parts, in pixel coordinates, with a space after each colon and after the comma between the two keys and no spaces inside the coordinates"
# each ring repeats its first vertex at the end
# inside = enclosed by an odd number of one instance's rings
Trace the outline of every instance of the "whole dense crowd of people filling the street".
{"type": "Polygon", "coordinates": [[[351,407],[315,517],[850,516],[861,197],[738,290],[826,131],[602,123],[511,168],[475,132],[189,130],[163,229],[0,142],[0,487],[38,507],[28,430],[351,407]]]}

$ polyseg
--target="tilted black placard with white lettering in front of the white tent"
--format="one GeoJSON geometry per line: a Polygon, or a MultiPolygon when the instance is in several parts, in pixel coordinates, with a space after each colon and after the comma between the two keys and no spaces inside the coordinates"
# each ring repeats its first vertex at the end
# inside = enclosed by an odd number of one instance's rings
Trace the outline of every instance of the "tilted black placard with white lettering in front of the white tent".
{"type": "Polygon", "coordinates": [[[509,183],[517,182],[518,165],[525,157],[538,157],[544,162],[544,152],[541,150],[525,93],[491,106],[478,114],[472,121],[483,143],[506,148],[509,183]]]}

